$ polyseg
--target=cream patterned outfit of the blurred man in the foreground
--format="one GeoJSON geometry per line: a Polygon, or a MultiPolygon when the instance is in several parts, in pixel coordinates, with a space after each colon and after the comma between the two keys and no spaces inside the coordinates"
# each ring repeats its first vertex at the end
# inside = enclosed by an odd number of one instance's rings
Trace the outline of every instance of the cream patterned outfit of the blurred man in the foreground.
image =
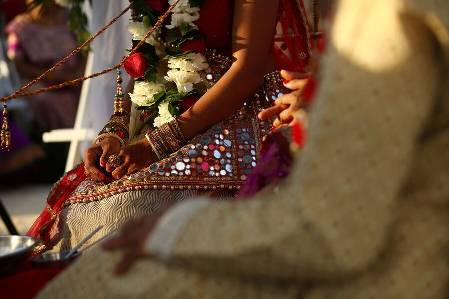
{"type": "Polygon", "coordinates": [[[341,0],[291,175],[172,208],[159,260],[92,250],[40,298],[449,296],[449,2],[341,0]]]}

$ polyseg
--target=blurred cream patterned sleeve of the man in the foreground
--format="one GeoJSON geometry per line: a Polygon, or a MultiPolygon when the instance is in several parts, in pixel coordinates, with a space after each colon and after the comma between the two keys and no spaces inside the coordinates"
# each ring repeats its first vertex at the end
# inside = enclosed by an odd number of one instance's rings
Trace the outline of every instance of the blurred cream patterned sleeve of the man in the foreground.
{"type": "Polygon", "coordinates": [[[430,31],[397,3],[340,2],[291,175],[248,201],[199,205],[170,249],[150,239],[150,251],[198,270],[295,279],[352,275],[381,253],[441,70],[430,31]]]}

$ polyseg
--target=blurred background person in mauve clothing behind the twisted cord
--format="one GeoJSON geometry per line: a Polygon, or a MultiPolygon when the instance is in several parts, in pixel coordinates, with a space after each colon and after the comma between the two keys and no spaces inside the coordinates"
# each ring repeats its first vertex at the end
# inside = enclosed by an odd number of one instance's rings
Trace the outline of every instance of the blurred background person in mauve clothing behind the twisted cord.
{"type": "MultiPolygon", "coordinates": [[[[31,0],[27,0],[30,3],[31,0]]],[[[67,28],[68,11],[49,2],[19,14],[10,21],[7,34],[7,56],[14,62],[21,85],[38,77],[76,48],[76,38],[67,28]]],[[[84,58],[74,56],[47,75],[39,86],[50,86],[82,76],[84,58]]],[[[36,84],[37,85],[37,84],[36,84]]],[[[72,127],[79,98],[79,86],[32,96],[28,100],[33,114],[35,134],[72,127]]]]}

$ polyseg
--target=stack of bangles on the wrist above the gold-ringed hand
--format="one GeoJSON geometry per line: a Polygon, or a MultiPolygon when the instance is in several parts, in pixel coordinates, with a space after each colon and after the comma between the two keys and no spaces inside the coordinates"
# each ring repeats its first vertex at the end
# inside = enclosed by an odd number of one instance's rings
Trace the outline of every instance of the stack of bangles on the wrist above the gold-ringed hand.
{"type": "Polygon", "coordinates": [[[159,159],[169,156],[187,144],[176,119],[159,126],[153,132],[147,131],[145,137],[159,159]]]}

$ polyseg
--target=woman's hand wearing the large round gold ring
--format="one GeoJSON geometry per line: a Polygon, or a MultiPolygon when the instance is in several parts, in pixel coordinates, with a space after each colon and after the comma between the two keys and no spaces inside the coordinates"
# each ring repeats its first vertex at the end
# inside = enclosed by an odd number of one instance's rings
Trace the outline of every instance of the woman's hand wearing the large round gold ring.
{"type": "Polygon", "coordinates": [[[106,171],[115,179],[125,173],[135,173],[158,160],[146,138],[117,150],[115,154],[121,158],[121,165],[114,167],[110,163],[106,164],[106,171]]]}

